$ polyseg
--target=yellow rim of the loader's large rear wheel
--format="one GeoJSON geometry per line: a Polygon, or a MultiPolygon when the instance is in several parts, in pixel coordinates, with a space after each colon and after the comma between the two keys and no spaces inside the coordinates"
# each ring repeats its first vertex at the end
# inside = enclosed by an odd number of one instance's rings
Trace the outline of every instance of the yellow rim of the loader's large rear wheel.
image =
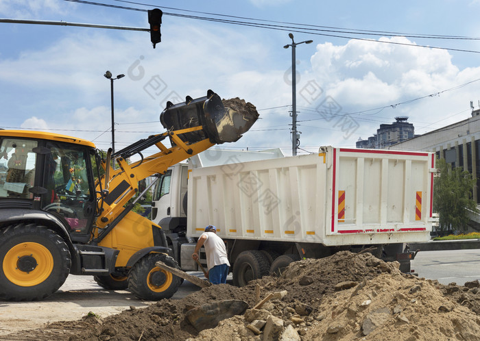
{"type": "Polygon", "coordinates": [[[8,251],[3,259],[3,273],[17,286],[36,286],[53,270],[49,249],[36,242],[22,242],[8,251]]]}

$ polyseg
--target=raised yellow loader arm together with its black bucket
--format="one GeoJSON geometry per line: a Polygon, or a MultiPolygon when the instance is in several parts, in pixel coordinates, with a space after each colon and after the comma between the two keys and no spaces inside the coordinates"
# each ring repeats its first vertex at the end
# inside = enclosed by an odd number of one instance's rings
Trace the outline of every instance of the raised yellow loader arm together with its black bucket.
{"type": "Polygon", "coordinates": [[[139,181],[163,174],[169,166],[215,144],[238,140],[258,116],[256,112],[245,114],[226,109],[212,90],[198,99],[187,97],[184,103],[173,105],[168,102],[160,114],[160,122],[167,129],[165,133],[139,140],[111,155],[113,162],[110,157],[103,162],[106,175],[97,184],[97,192],[101,193],[101,212],[97,218],[99,233],[96,241],[104,238],[131,210],[132,207],[125,207],[125,204],[138,192],[139,181]],[[166,138],[169,138],[171,147],[163,144],[166,138]],[[158,148],[158,153],[143,157],[142,151],[149,147],[158,148]],[[141,160],[129,164],[128,157],[135,154],[140,155],[141,160]],[[115,163],[118,168],[112,168],[115,163]]]}

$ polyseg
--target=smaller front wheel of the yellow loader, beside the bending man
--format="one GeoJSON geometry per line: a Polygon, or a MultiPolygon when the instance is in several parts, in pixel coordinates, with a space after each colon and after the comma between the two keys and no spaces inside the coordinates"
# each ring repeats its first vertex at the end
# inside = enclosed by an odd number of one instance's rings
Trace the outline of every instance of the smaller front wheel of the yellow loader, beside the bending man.
{"type": "Polygon", "coordinates": [[[158,301],[169,299],[180,286],[180,278],[155,265],[162,261],[172,268],[178,268],[172,257],[163,253],[149,253],[137,262],[128,275],[128,289],[139,299],[158,301]]]}

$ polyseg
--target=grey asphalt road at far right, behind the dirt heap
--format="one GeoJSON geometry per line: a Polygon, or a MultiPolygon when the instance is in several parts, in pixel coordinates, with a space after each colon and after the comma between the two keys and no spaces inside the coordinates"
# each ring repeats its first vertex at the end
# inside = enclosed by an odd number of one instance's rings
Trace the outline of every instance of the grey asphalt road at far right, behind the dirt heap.
{"type": "Polygon", "coordinates": [[[463,286],[466,281],[480,280],[480,249],[420,251],[411,268],[419,277],[463,286]]]}

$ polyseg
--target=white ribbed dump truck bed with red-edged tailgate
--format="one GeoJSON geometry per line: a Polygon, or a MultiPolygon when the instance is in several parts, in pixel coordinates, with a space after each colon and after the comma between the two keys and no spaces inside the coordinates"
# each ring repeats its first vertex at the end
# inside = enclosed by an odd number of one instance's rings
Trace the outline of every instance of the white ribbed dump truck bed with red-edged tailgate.
{"type": "Polygon", "coordinates": [[[193,168],[187,235],[326,246],[429,240],[435,155],[321,147],[318,153],[193,168]]]}

